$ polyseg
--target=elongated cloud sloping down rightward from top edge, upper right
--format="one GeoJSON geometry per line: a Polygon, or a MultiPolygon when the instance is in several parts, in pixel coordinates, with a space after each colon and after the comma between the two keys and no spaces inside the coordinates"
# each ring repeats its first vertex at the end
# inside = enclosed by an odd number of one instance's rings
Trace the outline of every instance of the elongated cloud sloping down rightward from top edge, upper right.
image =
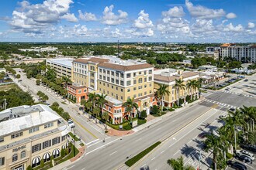
{"type": "Polygon", "coordinates": [[[185,5],[189,10],[190,15],[199,19],[217,19],[226,15],[226,12],[222,8],[212,9],[202,5],[193,5],[189,0],[185,1],[185,5]]]}

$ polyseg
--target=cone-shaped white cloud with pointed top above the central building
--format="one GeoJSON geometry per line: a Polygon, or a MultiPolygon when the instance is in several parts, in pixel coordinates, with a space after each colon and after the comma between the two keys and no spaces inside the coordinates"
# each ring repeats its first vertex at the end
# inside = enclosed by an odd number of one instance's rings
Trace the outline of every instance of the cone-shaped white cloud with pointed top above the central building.
{"type": "Polygon", "coordinates": [[[138,19],[135,19],[133,26],[137,29],[146,29],[154,25],[153,22],[149,19],[149,15],[145,13],[144,10],[141,10],[139,17],[138,19]]]}

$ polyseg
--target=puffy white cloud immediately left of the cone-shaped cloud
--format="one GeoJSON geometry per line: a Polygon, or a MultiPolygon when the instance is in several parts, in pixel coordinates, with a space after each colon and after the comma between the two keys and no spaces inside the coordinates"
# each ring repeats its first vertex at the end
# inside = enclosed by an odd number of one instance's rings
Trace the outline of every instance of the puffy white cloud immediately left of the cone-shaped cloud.
{"type": "Polygon", "coordinates": [[[114,8],[114,5],[110,5],[109,7],[106,6],[104,11],[102,12],[103,13],[102,23],[109,26],[116,26],[116,25],[127,22],[127,17],[128,17],[127,12],[118,10],[117,12],[119,13],[119,15],[115,15],[115,13],[112,12],[113,8],[114,8]]]}

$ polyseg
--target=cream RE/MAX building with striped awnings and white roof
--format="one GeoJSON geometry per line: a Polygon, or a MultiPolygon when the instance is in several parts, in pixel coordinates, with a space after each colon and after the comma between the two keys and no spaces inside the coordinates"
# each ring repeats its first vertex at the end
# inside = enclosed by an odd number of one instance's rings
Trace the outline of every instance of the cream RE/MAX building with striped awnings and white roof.
{"type": "Polygon", "coordinates": [[[0,169],[24,170],[57,158],[68,145],[69,128],[50,107],[13,107],[0,112],[0,169]]]}

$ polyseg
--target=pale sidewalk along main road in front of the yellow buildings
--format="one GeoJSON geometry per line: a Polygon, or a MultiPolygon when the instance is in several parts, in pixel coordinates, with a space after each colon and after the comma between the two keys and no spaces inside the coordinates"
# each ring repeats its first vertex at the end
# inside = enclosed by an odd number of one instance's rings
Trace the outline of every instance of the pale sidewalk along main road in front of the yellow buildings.
{"type": "Polygon", "coordinates": [[[191,107],[191,106],[194,105],[194,104],[198,104],[198,103],[201,102],[203,99],[204,99],[204,98],[201,97],[199,100],[196,100],[196,101],[192,102],[191,104],[187,104],[185,107],[178,108],[178,109],[176,109],[175,111],[168,111],[167,114],[164,114],[164,115],[161,116],[161,117],[156,117],[156,118],[152,119],[151,121],[147,121],[145,124],[142,124],[142,125],[138,126],[137,128],[133,128],[133,131],[134,131],[134,132],[137,132],[137,131],[143,130],[144,128],[150,127],[150,125],[156,124],[158,121],[163,120],[165,117],[169,117],[169,116],[171,116],[171,115],[173,115],[173,114],[178,114],[179,112],[181,112],[181,111],[184,110],[185,108],[191,107]]]}

